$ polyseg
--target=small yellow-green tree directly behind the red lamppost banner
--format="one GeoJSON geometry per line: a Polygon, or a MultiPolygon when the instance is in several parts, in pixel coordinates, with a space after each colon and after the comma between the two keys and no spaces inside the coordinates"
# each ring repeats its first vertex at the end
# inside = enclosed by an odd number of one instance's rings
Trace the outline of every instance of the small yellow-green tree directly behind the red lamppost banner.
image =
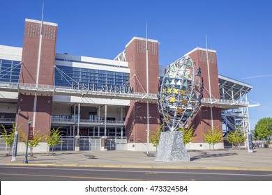
{"type": "MultiPolygon", "coordinates": [[[[20,141],[24,143],[25,146],[27,146],[27,134],[23,131],[19,131],[20,134],[20,141]]],[[[40,141],[45,138],[44,134],[39,134],[38,130],[35,130],[33,134],[32,140],[29,140],[29,149],[30,149],[30,155],[33,156],[33,149],[36,148],[40,141]]]]}

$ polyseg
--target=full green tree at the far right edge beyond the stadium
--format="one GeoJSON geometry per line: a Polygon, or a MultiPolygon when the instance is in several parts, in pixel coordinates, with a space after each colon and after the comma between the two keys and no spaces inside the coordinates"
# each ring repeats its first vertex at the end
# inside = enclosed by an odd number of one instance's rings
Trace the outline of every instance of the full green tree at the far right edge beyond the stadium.
{"type": "Polygon", "coordinates": [[[272,136],[272,118],[261,118],[255,125],[254,136],[260,140],[269,140],[272,136]]]}

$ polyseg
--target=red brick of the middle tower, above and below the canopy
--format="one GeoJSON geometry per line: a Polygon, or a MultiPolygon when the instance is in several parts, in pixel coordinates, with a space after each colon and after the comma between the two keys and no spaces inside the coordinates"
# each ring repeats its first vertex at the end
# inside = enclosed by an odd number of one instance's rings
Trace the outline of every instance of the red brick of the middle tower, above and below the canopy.
{"type": "MultiPolygon", "coordinates": [[[[149,93],[158,92],[158,42],[148,42],[149,49],[149,93]]],[[[130,81],[135,93],[146,92],[146,42],[135,39],[126,47],[126,60],[130,68],[130,81]],[[142,85],[142,86],[141,86],[142,85]]],[[[149,102],[149,129],[156,130],[160,126],[160,114],[156,102],[149,102]]],[[[128,142],[146,142],[146,102],[130,102],[126,116],[126,134],[128,142]]]]}

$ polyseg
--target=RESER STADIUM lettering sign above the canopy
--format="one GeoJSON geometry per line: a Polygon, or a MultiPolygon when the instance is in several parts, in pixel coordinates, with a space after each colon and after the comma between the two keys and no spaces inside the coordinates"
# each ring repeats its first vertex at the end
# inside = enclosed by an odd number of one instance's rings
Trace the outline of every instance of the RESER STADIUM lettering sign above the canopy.
{"type": "Polygon", "coordinates": [[[134,93],[134,88],[130,86],[116,86],[107,84],[90,84],[83,82],[73,82],[73,89],[86,91],[105,91],[111,93],[134,93]]]}

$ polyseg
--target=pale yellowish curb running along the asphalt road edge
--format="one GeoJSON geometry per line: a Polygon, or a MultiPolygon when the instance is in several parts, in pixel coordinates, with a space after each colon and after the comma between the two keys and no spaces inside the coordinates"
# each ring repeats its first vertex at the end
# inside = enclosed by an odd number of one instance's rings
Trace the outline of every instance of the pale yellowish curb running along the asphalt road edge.
{"type": "Polygon", "coordinates": [[[126,169],[188,169],[188,170],[225,170],[225,171],[272,171],[271,168],[245,168],[245,167],[227,167],[227,166],[130,166],[130,165],[81,165],[81,164],[22,164],[6,163],[6,166],[68,166],[68,167],[89,167],[89,168],[126,168],[126,169]]]}

